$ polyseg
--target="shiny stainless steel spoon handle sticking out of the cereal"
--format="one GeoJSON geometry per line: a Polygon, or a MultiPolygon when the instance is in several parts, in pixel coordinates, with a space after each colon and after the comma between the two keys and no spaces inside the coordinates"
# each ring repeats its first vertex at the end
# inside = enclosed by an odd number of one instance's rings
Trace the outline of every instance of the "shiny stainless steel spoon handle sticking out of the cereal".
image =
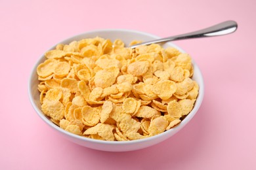
{"type": "Polygon", "coordinates": [[[211,27],[207,27],[205,29],[193,31],[191,33],[184,33],[181,35],[175,35],[175,36],[166,37],[163,39],[157,39],[154,41],[142,42],[140,44],[129,46],[129,48],[135,48],[139,45],[148,45],[153,43],[175,41],[175,40],[181,40],[181,39],[195,39],[195,38],[201,38],[201,37],[214,37],[218,35],[226,35],[228,33],[233,33],[234,31],[236,31],[237,28],[238,28],[238,24],[230,20],[226,22],[221,22],[220,24],[213,25],[211,27]]]}

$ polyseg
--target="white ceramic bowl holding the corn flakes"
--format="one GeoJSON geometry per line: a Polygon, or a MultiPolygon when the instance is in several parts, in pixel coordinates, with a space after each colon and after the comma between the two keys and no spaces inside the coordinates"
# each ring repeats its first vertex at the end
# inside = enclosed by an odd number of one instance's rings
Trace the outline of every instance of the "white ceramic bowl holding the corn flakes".
{"type": "MultiPolygon", "coordinates": [[[[153,39],[160,39],[160,37],[156,35],[151,35],[148,33],[143,33],[139,31],[132,31],[127,29],[102,29],[102,30],[96,30],[96,31],[89,31],[86,33],[82,33],[80,35],[75,35],[74,37],[71,37],[69,39],[66,39],[62,42],[62,44],[68,44],[72,41],[78,41],[85,38],[94,38],[94,37],[102,37],[104,39],[110,39],[111,41],[114,41],[115,39],[121,39],[123,42],[125,42],[125,45],[128,45],[129,42],[133,40],[141,40],[141,41],[150,41],[153,39]]],[[[49,50],[52,50],[56,45],[54,45],[49,50]]],[[[163,44],[163,47],[166,48],[167,46],[173,46],[177,49],[179,49],[181,52],[184,52],[179,46],[167,42],[163,44]]],[[[51,120],[47,118],[41,111],[41,104],[39,101],[39,91],[37,90],[37,84],[39,81],[37,80],[37,65],[39,63],[43,62],[45,60],[45,56],[42,55],[37,63],[35,63],[35,66],[33,67],[32,73],[30,75],[30,80],[28,83],[28,93],[30,97],[30,101],[32,103],[33,108],[37,112],[37,114],[40,116],[40,118],[49,126],[53,127],[54,130],[58,131],[58,133],[62,134],[66,139],[69,139],[70,141],[80,144],[81,146],[85,146],[88,148],[93,148],[96,150],[104,150],[104,151],[112,151],[112,152],[124,152],[124,151],[131,151],[131,150],[139,150],[142,148],[146,148],[148,146],[152,146],[154,144],[160,143],[161,141],[164,141],[165,139],[168,139],[169,137],[173,136],[175,133],[177,133],[182,127],[184,127],[190,120],[193,118],[193,116],[196,114],[198,109],[200,108],[200,105],[203,100],[203,77],[202,73],[200,72],[200,69],[198,68],[198,65],[194,61],[194,76],[192,79],[196,80],[200,86],[198,99],[194,105],[194,109],[182,120],[182,122],[179,124],[179,126],[176,126],[172,129],[169,129],[168,131],[165,131],[159,135],[155,135],[153,137],[148,137],[146,139],[139,139],[135,141],[100,141],[96,139],[89,139],[86,137],[81,137],[78,135],[74,135],[73,133],[70,133],[68,131],[65,131],[64,129],[61,129],[60,127],[56,126],[51,120]]]]}

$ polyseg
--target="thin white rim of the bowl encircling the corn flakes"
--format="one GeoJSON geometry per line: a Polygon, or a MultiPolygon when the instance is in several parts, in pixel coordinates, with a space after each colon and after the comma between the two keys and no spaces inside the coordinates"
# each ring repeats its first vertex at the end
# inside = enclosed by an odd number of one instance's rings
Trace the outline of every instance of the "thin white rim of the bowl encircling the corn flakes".
{"type": "MultiPolygon", "coordinates": [[[[86,32],[74,35],[72,37],[68,37],[67,39],[64,39],[63,41],[60,41],[60,42],[58,42],[56,44],[72,42],[72,40],[77,39],[78,37],[81,37],[81,36],[85,36],[87,34],[89,35],[89,34],[92,34],[92,33],[113,32],[113,31],[116,31],[116,32],[138,33],[140,35],[146,35],[148,37],[153,37],[155,39],[161,38],[161,37],[158,37],[157,35],[152,35],[150,33],[142,32],[142,31],[137,31],[137,30],[133,30],[133,29],[95,29],[93,31],[86,31],[86,32]]],[[[48,50],[53,49],[56,46],[56,44],[54,44],[48,50]]],[[[169,46],[173,46],[173,47],[177,48],[181,52],[185,52],[181,47],[177,46],[176,44],[173,44],[173,42],[166,42],[166,44],[168,44],[169,46]]],[[[198,97],[196,99],[196,104],[194,104],[194,108],[186,116],[186,118],[184,118],[184,120],[181,121],[179,126],[175,126],[175,127],[171,128],[171,129],[169,129],[167,131],[164,131],[163,133],[160,133],[158,135],[154,135],[152,137],[146,137],[144,139],[137,139],[137,140],[132,140],[132,141],[102,141],[102,140],[98,140],[98,139],[91,139],[91,138],[75,135],[74,133],[70,133],[68,131],[65,131],[64,129],[62,129],[59,126],[57,126],[56,124],[54,124],[51,120],[49,120],[49,118],[47,118],[47,116],[45,116],[45,114],[43,114],[43,112],[37,107],[37,105],[35,105],[35,102],[33,100],[33,97],[32,97],[32,79],[33,79],[33,75],[35,75],[37,73],[37,66],[39,65],[39,63],[41,63],[41,60],[44,57],[45,57],[44,54],[39,56],[39,58],[37,59],[35,65],[33,65],[32,72],[30,72],[30,77],[28,79],[28,95],[29,95],[30,103],[32,104],[32,107],[35,110],[35,112],[37,112],[37,115],[45,123],[47,123],[48,126],[52,127],[53,129],[55,129],[56,131],[59,131],[60,133],[62,133],[64,135],[70,136],[70,137],[72,137],[74,139],[78,139],[80,141],[85,141],[85,142],[89,142],[89,143],[97,143],[97,144],[110,144],[110,145],[118,144],[118,145],[123,145],[123,144],[137,144],[137,143],[144,143],[146,141],[152,141],[154,139],[159,139],[160,137],[168,136],[169,133],[173,133],[173,131],[174,131],[174,133],[171,134],[171,136],[172,136],[172,135],[175,135],[175,133],[177,133],[180,129],[182,129],[188,122],[190,122],[190,120],[194,117],[196,112],[198,112],[198,110],[200,109],[200,105],[202,105],[203,95],[204,95],[203,75],[202,75],[202,72],[200,71],[200,68],[198,67],[198,65],[196,64],[194,59],[192,58],[192,63],[193,63],[194,69],[197,69],[197,72],[199,74],[198,77],[200,77],[200,82],[198,82],[198,80],[197,80],[198,84],[200,84],[200,89],[199,89],[198,97]]],[[[171,136],[168,136],[167,138],[169,138],[171,136]]]]}

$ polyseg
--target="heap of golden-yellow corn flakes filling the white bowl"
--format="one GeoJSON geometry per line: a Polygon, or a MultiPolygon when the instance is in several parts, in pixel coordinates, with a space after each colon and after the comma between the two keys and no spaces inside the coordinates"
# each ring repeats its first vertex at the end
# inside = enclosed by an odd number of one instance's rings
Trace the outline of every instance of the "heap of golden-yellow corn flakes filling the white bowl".
{"type": "Polygon", "coordinates": [[[173,47],[132,49],[95,37],[58,44],[45,57],[37,67],[41,110],[83,137],[129,141],[163,133],[198,96],[190,56],[173,47]]]}

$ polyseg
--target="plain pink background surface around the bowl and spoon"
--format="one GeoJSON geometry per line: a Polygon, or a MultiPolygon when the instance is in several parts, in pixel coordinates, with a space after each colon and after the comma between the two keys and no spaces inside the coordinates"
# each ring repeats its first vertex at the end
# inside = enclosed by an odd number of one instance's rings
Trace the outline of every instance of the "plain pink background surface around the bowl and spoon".
{"type": "Polygon", "coordinates": [[[256,169],[256,1],[0,1],[0,169],[256,169]],[[133,152],[71,143],[28,99],[39,56],[93,29],[167,37],[236,20],[236,33],[177,41],[205,80],[198,114],[166,141],[133,152]]]}

